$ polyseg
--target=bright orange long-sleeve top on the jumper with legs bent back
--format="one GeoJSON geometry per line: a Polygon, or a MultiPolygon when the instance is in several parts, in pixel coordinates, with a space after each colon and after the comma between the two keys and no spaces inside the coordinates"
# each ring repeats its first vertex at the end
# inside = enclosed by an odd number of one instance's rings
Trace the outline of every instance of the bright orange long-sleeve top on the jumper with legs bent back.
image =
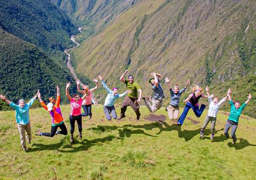
{"type": "MultiPolygon", "coordinates": [[[[44,102],[41,102],[41,105],[43,106],[44,109],[48,110],[44,102]]],[[[57,101],[56,101],[56,104],[53,106],[53,111],[50,111],[49,113],[52,117],[53,126],[60,125],[63,123],[63,117],[60,110],[60,96],[57,96],[57,101]]]]}

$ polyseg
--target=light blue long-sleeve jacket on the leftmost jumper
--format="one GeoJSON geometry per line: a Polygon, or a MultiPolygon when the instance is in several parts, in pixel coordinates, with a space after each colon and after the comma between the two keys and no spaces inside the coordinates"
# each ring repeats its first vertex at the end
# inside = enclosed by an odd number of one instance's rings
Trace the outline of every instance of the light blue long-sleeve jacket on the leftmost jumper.
{"type": "Polygon", "coordinates": [[[29,123],[29,107],[35,102],[35,99],[32,98],[28,103],[25,104],[23,108],[19,105],[14,104],[14,102],[10,103],[10,106],[15,109],[16,122],[18,124],[28,124],[29,123]]]}

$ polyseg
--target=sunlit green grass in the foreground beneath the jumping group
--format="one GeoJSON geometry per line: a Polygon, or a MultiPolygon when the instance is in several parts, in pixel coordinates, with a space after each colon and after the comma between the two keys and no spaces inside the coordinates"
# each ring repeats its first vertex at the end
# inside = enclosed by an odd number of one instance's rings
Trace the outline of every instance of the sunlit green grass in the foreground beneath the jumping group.
{"type": "MultiPolygon", "coordinates": [[[[248,105],[248,107],[250,104],[248,105]]],[[[199,131],[206,111],[200,118],[192,112],[182,127],[168,119],[149,119],[141,107],[141,120],[128,107],[122,120],[105,120],[102,105],[93,105],[93,117],[83,118],[83,140],[75,127],[75,143],[61,134],[49,138],[34,136],[37,129],[50,132],[51,117],[44,109],[30,110],[33,139],[24,152],[20,146],[14,111],[0,112],[0,179],[253,179],[256,176],[256,121],[241,115],[237,143],[222,135],[227,113],[219,111],[214,141],[210,127],[205,138],[199,131]],[[8,128],[2,128],[8,127],[8,128]],[[2,129],[6,129],[5,133],[2,129]],[[103,130],[104,129],[104,130],[103,130]],[[98,133],[100,132],[100,133],[98,133]]],[[[64,122],[70,105],[61,106],[64,122]]],[[[116,106],[119,115],[120,107],[116,106]]],[[[162,118],[162,117],[161,117],[162,118]]],[[[70,133],[69,133],[70,134],[70,133]]]]}

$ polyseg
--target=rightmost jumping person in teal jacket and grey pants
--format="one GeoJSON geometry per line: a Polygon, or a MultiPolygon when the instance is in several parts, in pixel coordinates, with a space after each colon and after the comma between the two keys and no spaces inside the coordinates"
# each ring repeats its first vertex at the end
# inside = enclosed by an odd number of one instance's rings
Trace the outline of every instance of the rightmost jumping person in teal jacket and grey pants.
{"type": "Polygon", "coordinates": [[[227,123],[225,125],[225,129],[224,129],[224,135],[228,138],[228,131],[230,130],[230,127],[232,128],[231,131],[231,137],[232,137],[232,144],[236,143],[237,138],[236,138],[236,129],[237,129],[237,125],[239,122],[239,117],[242,113],[242,110],[245,108],[245,106],[248,104],[248,102],[251,100],[251,94],[249,94],[247,96],[248,100],[245,101],[245,103],[240,106],[240,102],[239,101],[232,101],[231,98],[231,89],[228,89],[228,93],[227,93],[227,97],[228,100],[230,101],[230,116],[228,116],[227,119],[227,123]]]}

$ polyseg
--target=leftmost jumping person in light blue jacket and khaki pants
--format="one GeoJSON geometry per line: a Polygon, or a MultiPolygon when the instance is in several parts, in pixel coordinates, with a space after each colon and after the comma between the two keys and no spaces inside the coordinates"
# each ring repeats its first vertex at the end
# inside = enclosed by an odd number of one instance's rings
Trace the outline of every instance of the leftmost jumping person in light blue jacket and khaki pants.
{"type": "MultiPolygon", "coordinates": [[[[37,95],[38,95],[38,92],[37,92],[37,95]]],[[[25,141],[25,131],[27,134],[26,139],[28,143],[31,143],[31,139],[32,139],[31,126],[29,121],[29,107],[32,106],[32,104],[35,102],[37,95],[35,95],[28,103],[25,103],[24,100],[19,100],[19,105],[16,105],[14,104],[14,102],[7,100],[5,96],[0,95],[1,100],[7,102],[8,105],[10,105],[12,108],[15,109],[16,122],[18,124],[18,129],[20,132],[20,143],[24,151],[27,150],[26,141],[25,141]]]]}

